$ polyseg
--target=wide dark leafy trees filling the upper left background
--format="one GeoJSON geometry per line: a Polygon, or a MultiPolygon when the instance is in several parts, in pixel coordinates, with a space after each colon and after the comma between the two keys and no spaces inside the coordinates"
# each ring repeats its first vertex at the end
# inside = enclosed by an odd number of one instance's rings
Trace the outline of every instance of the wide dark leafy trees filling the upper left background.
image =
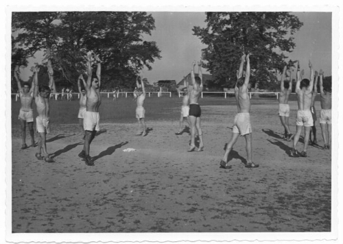
{"type": "Polygon", "coordinates": [[[99,54],[103,62],[105,88],[128,86],[141,69],[152,69],[150,64],[161,58],[156,42],[143,40],[155,28],[145,12],[18,12],[13,23],[14,30],[23,29],[16,42],[25,51],[34,55],[44,50],[46,56],[51,51],[56,83],[60,78],[76,84],[87,51],[99,54]]]}

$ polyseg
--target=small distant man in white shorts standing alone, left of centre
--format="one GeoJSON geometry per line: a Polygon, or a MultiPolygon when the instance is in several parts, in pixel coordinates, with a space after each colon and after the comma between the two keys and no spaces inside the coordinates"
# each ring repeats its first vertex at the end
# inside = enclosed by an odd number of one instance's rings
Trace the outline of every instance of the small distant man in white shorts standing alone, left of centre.
{"type": "Polygon", "coordinates": [[[145,99],[145,88],[144,82],[141,80],[141,84],[139,84],[141,76],[137,75],[136,78],[136,86],[137,90],[134,90],[134,98],[137,99],[137,108],[136,108],[136,118],[138,121],[138,132],[137,136],[145,136],[147,134],[147,128],[145,125],[145,109],[143,108],[143,103],[145,99]],[[141,127],[143,127],[143,131],[141,132],[141,127]]]}

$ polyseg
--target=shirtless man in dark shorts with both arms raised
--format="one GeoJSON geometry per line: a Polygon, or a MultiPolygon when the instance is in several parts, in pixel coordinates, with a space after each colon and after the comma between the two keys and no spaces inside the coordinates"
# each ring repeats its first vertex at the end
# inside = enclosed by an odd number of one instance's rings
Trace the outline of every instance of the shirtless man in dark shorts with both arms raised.
{"type": "Polygon", "coordinates": [[[194,74],[194,66],[196,66],[196,61],[192,64],[191,69],[191,80],[193,84],[193,89],[189,91],[189,122],[191,123],[191,144],[189,145],[188,151],[194,151],[196,149],[196,130],[199,136],[199,148],[197,151],[202,151],[204,149],[204,141],[202,139],[202,130],[200,126],[200,116],[201,108],[198,104],[198,99],[204,88],[202,84],[202,71],[201,64],[198,62],[198,76],[194,74]]]}

